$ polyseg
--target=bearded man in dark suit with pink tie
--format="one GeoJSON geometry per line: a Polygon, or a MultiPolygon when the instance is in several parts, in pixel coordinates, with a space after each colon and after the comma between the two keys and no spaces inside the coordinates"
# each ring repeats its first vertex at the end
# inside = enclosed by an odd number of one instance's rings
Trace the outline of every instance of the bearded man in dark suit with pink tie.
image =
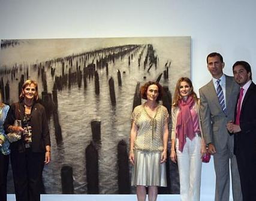
{"type": "Polygon", "coordinates": [[[244,201],[256,200],[256,86],[252,82],[249,63],[239,61],[233,65],[234,79],[240,85],[235,122],[227,124],[234,133],[234,154],[240,173],[244,201]]]}

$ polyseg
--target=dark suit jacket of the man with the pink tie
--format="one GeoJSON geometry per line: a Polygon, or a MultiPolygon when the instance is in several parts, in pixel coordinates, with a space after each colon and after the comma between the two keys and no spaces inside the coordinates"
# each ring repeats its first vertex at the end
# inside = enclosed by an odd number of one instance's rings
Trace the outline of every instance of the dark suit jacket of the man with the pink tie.
{"type": "MultiPolygon", "coordinates": [[[[236,119],[236,109],[234,119],[236,119]]],[[[234,154],[256,154],[256,85],[254,83],[249,86],[242,102],[240,128],[241,132],[234,134],[234,154]]]]}

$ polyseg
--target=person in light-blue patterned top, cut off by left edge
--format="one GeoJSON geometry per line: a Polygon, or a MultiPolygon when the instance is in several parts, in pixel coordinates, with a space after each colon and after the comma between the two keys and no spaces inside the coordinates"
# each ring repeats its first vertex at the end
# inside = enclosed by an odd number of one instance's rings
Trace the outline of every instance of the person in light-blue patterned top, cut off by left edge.
{"type": "Polygon", "coordinates": [[[9,165],[9,142],[4,132],[4,120],[9,110],[9,105],[2,102],[2,94],[0,91],[0,200],[7,201],[7,172],[9,165]]]}

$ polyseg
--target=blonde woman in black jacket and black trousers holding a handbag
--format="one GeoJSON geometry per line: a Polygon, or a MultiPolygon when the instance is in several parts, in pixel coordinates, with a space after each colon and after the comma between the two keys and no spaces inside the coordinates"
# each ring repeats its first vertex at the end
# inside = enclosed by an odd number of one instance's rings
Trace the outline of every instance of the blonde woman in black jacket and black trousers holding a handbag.
{"type": "Polygon", "coordinates": [[[23,84],[19,102],[11,105],[4,129],[21,136],[10,145],[16,200],[40,201],[44,164],[50,162],[50,133],[34,80],[23,84]],[[15,120],[22,125],[14,126],[15,120]]]}

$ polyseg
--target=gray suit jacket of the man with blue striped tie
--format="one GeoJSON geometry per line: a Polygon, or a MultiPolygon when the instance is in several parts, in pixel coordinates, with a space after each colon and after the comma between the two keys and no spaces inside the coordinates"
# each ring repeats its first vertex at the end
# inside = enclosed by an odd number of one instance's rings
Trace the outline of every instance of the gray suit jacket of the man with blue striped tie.
{"type": "Polygon", "coordinates": [[[226,129],[228,121],[234,120],[239,85],[233,77],[225,75],[226,114],[219,105],[218,96],[212,80],[199,89],[201,99],[201,124],[206,144],[212,143],[216,150],[222,150],[227,144],[229,133],[226,129]]]}

